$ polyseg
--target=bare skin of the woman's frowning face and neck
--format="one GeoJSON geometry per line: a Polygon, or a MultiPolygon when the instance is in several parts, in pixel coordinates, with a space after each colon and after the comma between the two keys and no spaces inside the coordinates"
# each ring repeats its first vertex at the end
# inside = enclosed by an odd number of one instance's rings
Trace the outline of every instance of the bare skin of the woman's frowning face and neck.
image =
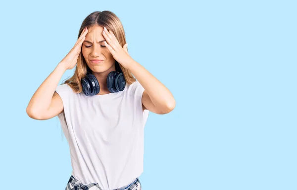
{"type": "Polygon", "coordinates": [[[100,92],[97,95],[110,93],[107,88],[106,78],[111,71],[115,71],[115,59],[104,44],[105,38],[103,37],[102,32],[103,27],[101,26],[89,27],[85,41],[82,44],[82,54],[87,65],[93,71],[92,74],[96,76],[100,85],[100,92]],[[104,41],[99,42],[102,40],[104,41]],[[90,41],[91,43],[86,41],[90,41]],[[90,62],[92,59],[100,59],[104,61],[99,64],[93,64],[90,62]]]}

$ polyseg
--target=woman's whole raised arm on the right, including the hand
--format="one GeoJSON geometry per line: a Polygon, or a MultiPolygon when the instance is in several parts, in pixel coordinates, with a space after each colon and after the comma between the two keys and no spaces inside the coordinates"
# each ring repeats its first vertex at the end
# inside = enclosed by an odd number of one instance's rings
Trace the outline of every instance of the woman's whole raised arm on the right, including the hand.
{"type": "Polygon", "coordinates": [[[127,43],[122,47],[112,31],[105,27],[102,32],[107,49],[113,58],[124,68],[131,71],[145,91],[142,96],[143,109],[155,114],[167,114],[175,107],[171,92],[157,78],[151,75],[142,65],[134,61],[128,53],[127,43]]]}

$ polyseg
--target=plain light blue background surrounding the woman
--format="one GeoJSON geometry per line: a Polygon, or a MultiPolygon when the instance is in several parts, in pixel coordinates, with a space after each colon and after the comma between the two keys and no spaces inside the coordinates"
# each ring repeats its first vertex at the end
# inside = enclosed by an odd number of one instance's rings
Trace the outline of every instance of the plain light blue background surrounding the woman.
{"type": "Polygon", "coordinates": [[[111,10],[132,58],[177,102],[148,117],[143,190],[296,190],[296,9],[293,0],[1,2],[1,187],[65,189],[59,120],[34,120],[26,107],[83,19],[111,10]]]}

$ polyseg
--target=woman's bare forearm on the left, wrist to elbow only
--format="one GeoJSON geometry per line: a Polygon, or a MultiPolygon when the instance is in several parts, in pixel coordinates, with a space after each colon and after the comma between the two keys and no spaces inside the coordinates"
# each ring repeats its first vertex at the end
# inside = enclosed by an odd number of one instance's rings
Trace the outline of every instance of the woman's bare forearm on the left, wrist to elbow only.
{"type": "Polygon", "coordinates": [[[26,109],[27,113],[38,114],[49,109],[52,95],[65,71],[66,68],[60,62],[33,94],[26,109]]]}

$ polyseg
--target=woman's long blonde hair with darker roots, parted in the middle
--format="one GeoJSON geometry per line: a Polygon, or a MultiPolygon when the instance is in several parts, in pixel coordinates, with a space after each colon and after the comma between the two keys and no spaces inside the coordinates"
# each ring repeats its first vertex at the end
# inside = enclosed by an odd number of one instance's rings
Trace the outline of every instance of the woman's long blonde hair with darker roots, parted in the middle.
{"type": "MultiPolygon", "coordinates": [[[[123,46],[126,43],[126,37],[125,37],[125,31],[123,28],[123,25],[120,21],[120,19],[111,11],[95,11],[92,12],[90,15],[88,15],[85,20],[83,21],[80,29],[78,37],[80,37],[81,33],[83,32],[84,28],[86,27],[92,27],[92,26],[101,26],[105,27],[107,30],[110,30],[113,32],[117,40],[119,41],[120,45],[123,46]]],[[[118,62],[115,61],[115,64],[118,62]]],[[[121,66],[121,64],[118,64],[120,66],[120,69],[122,70],[126,83],[132,84],[136,81],[132,73],[121,66]]],[[[88,67],[82,51],[80,52],[78,59],[77,59],[77,65],[75,68],[75,73],[73,76],[71,76],[69,79],[65,79],[65,82],[62,84],[68,84],[72,90],[75,93],[82,92],[82,84],[81,79],[84,78],[87,74],[87,72],[90,71],[90,68],[88,67]]]]}

